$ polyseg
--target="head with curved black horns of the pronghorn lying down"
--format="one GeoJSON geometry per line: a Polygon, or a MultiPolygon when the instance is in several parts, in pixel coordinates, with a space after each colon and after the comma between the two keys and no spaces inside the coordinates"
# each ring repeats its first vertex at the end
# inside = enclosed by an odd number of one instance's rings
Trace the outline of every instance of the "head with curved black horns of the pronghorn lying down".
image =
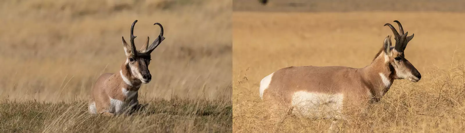
{"type": "MultiPolygon", "coordinates": [[[[136,46],[134,44],[134,38],[136,36],[133,35],[134,25],[137,23],[137,20],[133,22],[131,26],[131,45],[128,45],[126,41],[123,39],[123,48],[126,54],[126,62],[125,66],[127,69],[130,70],[131,76],[134,79],[139,79],[142,83],[147,84],[152,80],[152,75],[150,75],[150,71],[148,70],[148,65],[150,64],[150,53],[152,53],[153,49],[157,48],[158,45],[165,39],[163,37],[163,26],[159,23],[155,23],[160,26],[160,35],[153,41],[153,43],[148,46],[149,37],[147,36],[147,40],[140,48],[140,50],[136,50],[136,46]]],[[[155,25],[153,24],[153,25],[155,25]]]]}

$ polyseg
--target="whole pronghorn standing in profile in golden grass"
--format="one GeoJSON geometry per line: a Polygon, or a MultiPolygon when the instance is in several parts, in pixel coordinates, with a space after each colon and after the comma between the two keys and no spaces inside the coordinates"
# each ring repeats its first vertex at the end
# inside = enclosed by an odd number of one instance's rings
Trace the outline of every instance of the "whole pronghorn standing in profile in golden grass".
{"type": "Polygon", "coordinates": [[[407,36],[400,22],[394,22],[399,24],[400,33],[391,24],[385,26],[394,33],[395,47],[391,47],[391,36],[387,36],[372,63],[364,68],[287,67],[263,78],[260,97],[270,102],[270,111],[275,112],[272,117],[279,120],[288,111],[310,118],[344,120],[343,109],[366,109],[385,95],[394,79],[418,82],[420,73],[404,56],[413,34],[407,36]],[[326,114],[319,114],[322,112],[326,114]]]}

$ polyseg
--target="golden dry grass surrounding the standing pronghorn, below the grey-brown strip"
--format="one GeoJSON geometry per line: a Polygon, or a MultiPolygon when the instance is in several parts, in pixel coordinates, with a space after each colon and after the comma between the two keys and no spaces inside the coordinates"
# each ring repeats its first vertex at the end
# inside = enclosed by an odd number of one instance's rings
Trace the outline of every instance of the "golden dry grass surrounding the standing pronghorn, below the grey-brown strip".
{"type": "Polygon", "coordinates": [[[274,125],[259,98],[259,82],[290,66],[369,65],[399,20],[409,34],[405,56],[422,74],[418,83],[395,80],[365,115],[349,116],[345,132],[465,131],[465,13],[234,12],[233,132],[326,132],[326,120],[287,117],[274,125]],[[395,24],[395,23],[394,23],[395,24]]]}

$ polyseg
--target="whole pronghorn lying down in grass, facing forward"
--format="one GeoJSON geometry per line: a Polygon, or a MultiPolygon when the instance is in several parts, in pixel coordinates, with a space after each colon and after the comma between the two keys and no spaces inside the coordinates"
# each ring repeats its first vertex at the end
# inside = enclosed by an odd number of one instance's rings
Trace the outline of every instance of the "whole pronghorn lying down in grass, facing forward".
{"type": "MultiPolygon", "coordinates": [[[[163,37],[163,26],[160,26],[160,34],[148,46],[149,37],[140,50],[136,50],[133,35],[134,25],[131,25],[131,45],[123,39],[123,48],[126,61],[121,65],[119,73],[104,73],[95,83],[89,100],[89,111],[92,114],[120,115],[128,113],[127,109],[139,106],[137,100],[138,91],[142,83],[147,84],[152,79],[148,70],[150,64],[150,53],[165,39],[163,37]]],[[[153,24],[153,25],[155,25],[153,24]]]]}

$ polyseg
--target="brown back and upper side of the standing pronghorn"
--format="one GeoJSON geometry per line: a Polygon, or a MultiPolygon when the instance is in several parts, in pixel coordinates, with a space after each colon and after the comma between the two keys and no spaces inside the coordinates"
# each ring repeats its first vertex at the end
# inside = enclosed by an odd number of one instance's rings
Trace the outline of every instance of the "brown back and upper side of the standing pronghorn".
{"type": "MultiPolygon", "coordinates": [[[[263,95],[277,92],[286,97],[284,98],[286,102],[291,102],[290,97],[299,91],[328,94],[338,94],[348,90],[355,91],[361,88],[354,87],[361,87],[365,84],[360,73],[362,72],[358,69],[340,66],[286,67],[273,73],[269,85],[264,85],[268,87],[264,90],[263,95]]],[[[363,93],[366,94],[366,92],[363,93]]]]}

